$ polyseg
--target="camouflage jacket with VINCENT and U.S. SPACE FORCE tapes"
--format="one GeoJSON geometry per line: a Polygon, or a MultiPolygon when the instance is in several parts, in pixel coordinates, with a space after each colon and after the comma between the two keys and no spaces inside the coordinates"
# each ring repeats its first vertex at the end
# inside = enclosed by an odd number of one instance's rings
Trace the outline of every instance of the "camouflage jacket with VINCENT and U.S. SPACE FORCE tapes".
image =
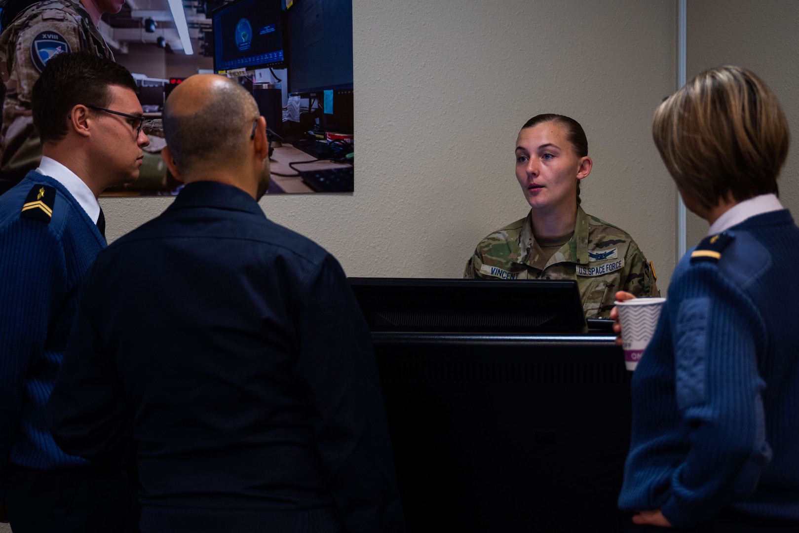
{"type": "Polygon", "coordinates": [[[658,296],[654,269],[632,237],[578,207],[574,235],[549,261],[536,253],[531,214],[480,241],[463,277],[577,280],[586,318],[607,318],[616,292],[658,296]]]}

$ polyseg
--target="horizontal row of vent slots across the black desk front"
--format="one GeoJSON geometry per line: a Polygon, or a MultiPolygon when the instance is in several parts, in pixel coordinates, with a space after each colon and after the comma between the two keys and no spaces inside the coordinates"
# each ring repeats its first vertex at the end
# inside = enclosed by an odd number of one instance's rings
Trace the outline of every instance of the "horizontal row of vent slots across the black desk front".
{"type": "Polygon", "coordinates": [[[393,383],[542,383],[618,384],[629,382],[618,363],[507,363],[392,360],[384,361],[383,379],[393,383]]]}

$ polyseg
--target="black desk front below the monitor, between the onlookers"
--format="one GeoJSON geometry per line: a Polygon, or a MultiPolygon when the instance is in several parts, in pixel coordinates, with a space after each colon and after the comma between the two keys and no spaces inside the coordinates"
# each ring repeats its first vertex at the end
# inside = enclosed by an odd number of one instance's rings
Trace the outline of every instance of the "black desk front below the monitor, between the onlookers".
{"type": "Polygon", "coordinates": [[[408,531],[623,531],[630,372],[612,337],[373,340],[408,531]]]}

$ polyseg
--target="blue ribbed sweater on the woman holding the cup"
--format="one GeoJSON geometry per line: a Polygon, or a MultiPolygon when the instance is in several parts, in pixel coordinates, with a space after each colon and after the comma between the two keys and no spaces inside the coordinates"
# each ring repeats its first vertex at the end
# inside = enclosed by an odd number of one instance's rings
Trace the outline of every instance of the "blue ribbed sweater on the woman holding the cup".
{"type": "Polygon", "coordinates": [[[799,228],[781,210],[725,234],[718,261],[674,270],[632,383],[619,506],[680,527],[722,507],[799,521],[799,228]]]}

